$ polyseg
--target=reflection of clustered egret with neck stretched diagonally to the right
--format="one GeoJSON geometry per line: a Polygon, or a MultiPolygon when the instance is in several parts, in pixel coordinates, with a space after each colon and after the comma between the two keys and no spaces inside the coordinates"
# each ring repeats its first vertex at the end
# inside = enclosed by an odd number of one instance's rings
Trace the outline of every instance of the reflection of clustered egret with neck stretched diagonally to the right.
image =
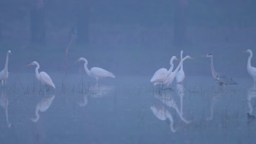
{"type": "Polygon", "coordinates": [[[172,95],[171,94],[166,94],[166,95],[162,95],[161,97],[159,97],[159,99],[161,100],[161,102],[166,105],[166,106],[170,106],[172,107],[173,109],[176,110],[176,112],[178,113],[179,115],[179,118],[181,118],[181,120],[185,123],[191,123],[192,121],[188,121],[187,119],[185,119],[183,116],[182,116],[182,113],[181,111],[179,110],[177,104],[175,103],[174,99],[172,98],[172,95]]]}

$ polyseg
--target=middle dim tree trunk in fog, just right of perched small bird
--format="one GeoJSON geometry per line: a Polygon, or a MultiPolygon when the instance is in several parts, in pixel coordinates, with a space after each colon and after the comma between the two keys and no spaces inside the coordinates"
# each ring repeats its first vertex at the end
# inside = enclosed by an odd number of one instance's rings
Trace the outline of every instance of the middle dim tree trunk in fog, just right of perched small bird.
{"type": "Polygon", "coordinates": [[[78,44],[89,44],[89,25],[90,25],[90,1],[78,0],[77,8],[77,42],[78,44]]]}

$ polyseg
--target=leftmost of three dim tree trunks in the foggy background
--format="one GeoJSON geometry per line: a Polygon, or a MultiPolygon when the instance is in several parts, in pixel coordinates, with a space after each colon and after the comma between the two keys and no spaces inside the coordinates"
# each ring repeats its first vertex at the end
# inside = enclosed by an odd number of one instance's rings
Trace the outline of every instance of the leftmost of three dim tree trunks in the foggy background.
{"type": "Polygon", "coordinates": [[[45,45],[44,0],[31,1],[30,29],[32,44],[45,45]]]}

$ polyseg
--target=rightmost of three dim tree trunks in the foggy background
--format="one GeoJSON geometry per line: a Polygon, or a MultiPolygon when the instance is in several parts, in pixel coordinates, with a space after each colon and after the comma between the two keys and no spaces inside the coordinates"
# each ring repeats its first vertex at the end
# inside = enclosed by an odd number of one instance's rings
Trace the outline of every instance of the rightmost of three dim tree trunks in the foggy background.
{"type": "Polygon", "coordinates": [[[174,39],[175,46],[181,46],[187,42],[187,8],[188,0],[174,0],[174,39]]]}

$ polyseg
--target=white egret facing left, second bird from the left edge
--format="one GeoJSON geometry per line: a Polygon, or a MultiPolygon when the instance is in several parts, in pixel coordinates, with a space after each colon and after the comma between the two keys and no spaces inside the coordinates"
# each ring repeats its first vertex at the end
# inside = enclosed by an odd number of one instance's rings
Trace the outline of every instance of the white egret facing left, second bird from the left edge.
{"type": "Polygon", "coordinates": [[[36,77],[46,87],[46,92],[50,90],[49,86],[55,89],[55,85],[54,85],[53,81],[51,80],[51,77],[47,73],[45,73],[44,71],[41,71],[40,73],[38,73],[38,69],[40,67],[38,62],[34,61],[31,64],[28,64],[27,66],[30,66],[30,65],[37,65],[36,77]]]}

